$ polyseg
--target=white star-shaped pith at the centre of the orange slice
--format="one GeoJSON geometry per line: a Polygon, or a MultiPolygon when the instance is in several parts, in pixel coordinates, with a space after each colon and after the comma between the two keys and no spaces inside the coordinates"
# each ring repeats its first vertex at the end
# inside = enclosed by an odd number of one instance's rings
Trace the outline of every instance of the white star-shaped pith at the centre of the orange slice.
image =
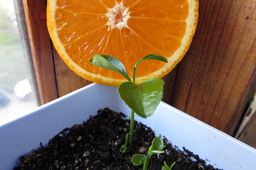
{"type": "Polygon", "coordinates": [[[113,8],[108,8],[108,13],[106,16],[108,17],[108,31],[112,30],[113,28],[129,28],[127,25],[127,20],[131,17],[129,12],[129,7],[125,7],[123,2],[116,3],[116,5],[113,8]],[[119,13],[122,14],[122,17],[120,19],[116,19],[116,15],[119,13]]]}

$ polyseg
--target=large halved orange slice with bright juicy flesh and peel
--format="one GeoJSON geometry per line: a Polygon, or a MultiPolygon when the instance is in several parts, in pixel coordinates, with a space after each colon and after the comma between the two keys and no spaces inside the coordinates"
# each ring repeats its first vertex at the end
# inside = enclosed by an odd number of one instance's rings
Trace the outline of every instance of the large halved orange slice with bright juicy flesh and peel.
{"type": "Polygon", "coordinates": [[[118,86],[121,75],[91,65],[93,54],[119,59],[128,76],[137,67],[136,83],[168,74],[183,58],[198,20],[198,0],[48,0],[47,26],[66,64],[84,79],[118,86]]]}

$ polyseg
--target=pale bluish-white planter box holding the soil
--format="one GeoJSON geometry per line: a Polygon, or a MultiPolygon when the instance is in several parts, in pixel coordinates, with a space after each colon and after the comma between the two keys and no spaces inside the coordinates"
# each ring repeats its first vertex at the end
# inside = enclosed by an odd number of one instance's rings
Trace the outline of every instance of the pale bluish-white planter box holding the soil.
{"type": "MultiPolygon", "coordinates": [[[[0,126],[0,170],[11,170],[19,157],[46,145],[66,127],[81,124],[100,108],[108,107],[130,116],[116,87],[92,84],[47,103],[0,126]]],[[[148,119],[135,120],[150,126],[173,145],[183,146],[207,163],[224,170],[255,170],[256,150],[164,102],[148,119]]]]}

